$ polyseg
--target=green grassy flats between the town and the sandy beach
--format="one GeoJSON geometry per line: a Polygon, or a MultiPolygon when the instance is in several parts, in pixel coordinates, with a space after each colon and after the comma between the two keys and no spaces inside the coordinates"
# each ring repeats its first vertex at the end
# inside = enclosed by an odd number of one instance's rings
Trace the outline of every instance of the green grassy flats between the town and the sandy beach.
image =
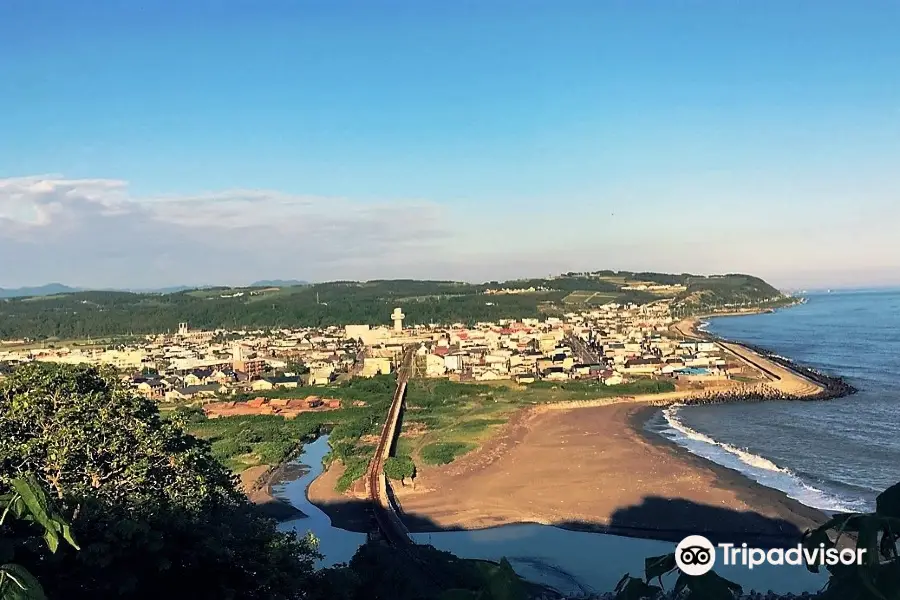
{"type": "MultiPolygon", "coordinates": [[[[296,454],[301,445],[329,432],[326,462],[345,466],[337,491],[361,477],[372,457],[372,440],[381,431],[396,380],[392,375],[352,379],[326,388],[297,388],[262,393],[269,397],[305,397],[310,393],[345,400],[339,410],[302,413],[294,419],[258,415],[207,419],[196,407],[181,406],[188,430],[212,446],[213,454],[235,473],[275,465],[296,454]],[[365,406],[353,406],[362,400],[365,406]]],[[[520,408],[547,402],[670,391],[668,382],[640,380],[620,386],[599,382],[454,383],[446,379],[414,379],[407,388],[406,409],[395,454],[417,465],[441,465],[475,450],[496,434],[520,408]]]]}

